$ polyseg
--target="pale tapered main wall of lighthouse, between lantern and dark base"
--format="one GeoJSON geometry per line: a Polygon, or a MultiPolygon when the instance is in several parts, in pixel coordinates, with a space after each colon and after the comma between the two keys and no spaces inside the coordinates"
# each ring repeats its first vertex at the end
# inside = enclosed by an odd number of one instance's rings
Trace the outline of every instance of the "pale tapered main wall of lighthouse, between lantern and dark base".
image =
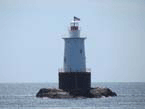
{"type": "Polygon", "coordinates": [[[64,38],[64,71],[86,71],[85,38],[64,38]]]}

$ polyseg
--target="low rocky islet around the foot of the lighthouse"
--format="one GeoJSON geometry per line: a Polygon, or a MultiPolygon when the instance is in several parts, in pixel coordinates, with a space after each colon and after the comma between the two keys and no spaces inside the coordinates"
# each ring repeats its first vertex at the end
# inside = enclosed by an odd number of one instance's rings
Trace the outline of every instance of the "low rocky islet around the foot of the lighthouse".
{"type": "Polygon", "coordinates": [[[55,88],[42,88],[36,94],[36,97],[48,97],[48,98],[101,98],[101,97],[109,97],[109,96],[117,96],[115,92],[113,92],[109,88],[90,88],[88,93],[85,95],[81,95],[80,90],[71,90],[71,91],[64,91],[62,89],[55,89],[55,88]]]}

